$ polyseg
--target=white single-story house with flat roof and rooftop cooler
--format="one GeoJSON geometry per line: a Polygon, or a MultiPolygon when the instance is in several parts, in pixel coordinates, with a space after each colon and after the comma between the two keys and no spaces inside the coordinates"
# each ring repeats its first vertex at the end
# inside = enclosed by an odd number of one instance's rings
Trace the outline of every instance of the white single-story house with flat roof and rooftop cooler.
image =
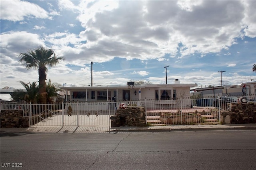
{"type": "Polygon", "coordinates": [[[178,79],[174,84],[143,84],[135,86],[127,82],[127,86],[69,86],[61,87],[67,101],[106,102],[106,101],[141,101],[141,100],[177,100],[190,98],[190,88],[197,84],[180,84],[178,79]],[[67,96],[67,95],[66,95],[67,96]]]}

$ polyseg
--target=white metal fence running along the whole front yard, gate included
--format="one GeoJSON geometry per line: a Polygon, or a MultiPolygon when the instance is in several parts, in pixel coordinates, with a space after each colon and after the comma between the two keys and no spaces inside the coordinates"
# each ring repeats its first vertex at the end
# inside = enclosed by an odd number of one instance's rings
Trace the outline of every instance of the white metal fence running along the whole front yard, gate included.
{"type": "Polygon", "coordinates": [[[145,107],[147,125],[219,123],[220,110],[230,103],[255,102],[252,97],[142,100],[130,102],[67,102],[62,104],[2,103],[1,109],[22,109],[30,126],[109,126],[110,116],[120,107],[145,107]],[[220,107],[219,107],[220,106],[220,107]],[[71,108],[70,108],[71,107],[71,108]]]}

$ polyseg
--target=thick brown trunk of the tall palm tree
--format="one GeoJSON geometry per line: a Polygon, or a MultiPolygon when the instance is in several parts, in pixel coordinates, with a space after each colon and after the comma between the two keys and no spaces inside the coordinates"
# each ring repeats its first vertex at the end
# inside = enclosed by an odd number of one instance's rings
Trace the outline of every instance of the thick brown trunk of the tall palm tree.
{"type": "Polygon", "coordinates": [[[46,68],[40,67],[38,69],[39,74],[39,102],[46,103],[46,68]]]}

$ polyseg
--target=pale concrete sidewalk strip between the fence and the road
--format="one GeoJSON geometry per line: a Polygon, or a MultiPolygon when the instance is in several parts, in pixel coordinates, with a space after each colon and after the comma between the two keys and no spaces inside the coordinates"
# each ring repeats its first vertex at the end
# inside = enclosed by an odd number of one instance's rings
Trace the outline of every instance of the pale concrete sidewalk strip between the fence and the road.
{"type": "Polygon", "coordinates": [[[150,127],[28,127],[1,128],[1,133],[120,133],[120,132],[172,132],[172,131],[213,131],[213,130],[256,130],[256,124],[232,125],[170,125],[150,127]]]}

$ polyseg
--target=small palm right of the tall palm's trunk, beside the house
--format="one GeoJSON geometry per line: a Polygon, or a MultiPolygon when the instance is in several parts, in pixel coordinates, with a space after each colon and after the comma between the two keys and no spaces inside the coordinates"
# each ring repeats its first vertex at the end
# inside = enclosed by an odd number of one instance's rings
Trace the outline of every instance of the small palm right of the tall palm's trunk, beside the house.
{"type": "Polygon", "coordinates": [[[53,97],[57,97],[59,91],[62,91],[62,89],[60,89],[60,84],[57,83],[52,83],[51,79],[47,82],[46,84],[46,92],[47,92],[47,102],[52,103],[52,98],[53,97]]]}

